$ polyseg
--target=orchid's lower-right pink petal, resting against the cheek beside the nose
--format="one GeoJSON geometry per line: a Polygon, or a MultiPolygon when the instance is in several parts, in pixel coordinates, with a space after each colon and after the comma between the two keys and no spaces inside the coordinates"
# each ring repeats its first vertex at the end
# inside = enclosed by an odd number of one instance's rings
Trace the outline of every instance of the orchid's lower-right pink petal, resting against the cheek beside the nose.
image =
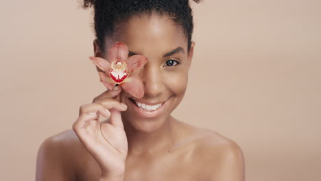
{"type": "Polygon", "coordinates": [[[126,82],[121,84],[121,87],[136,98],[144,96],[144,87],[141,78],[136,75],[130,75],[126,78],[126,82]]]}

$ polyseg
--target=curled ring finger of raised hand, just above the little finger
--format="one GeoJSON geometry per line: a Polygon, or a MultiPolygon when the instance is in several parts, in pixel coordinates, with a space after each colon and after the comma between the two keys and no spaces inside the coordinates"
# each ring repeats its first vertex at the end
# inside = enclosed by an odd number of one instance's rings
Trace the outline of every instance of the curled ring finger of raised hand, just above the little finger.
{"type": "Polygon", "coordinates": [[[84,104],[80,106],[80,115],[96,114],[96,113],[97,113],[97,119],[99,119],[99,114],[102,114],[103,117],[110,117],[110,111],[103,104],[93,103],[93,104],[84,104]]]}

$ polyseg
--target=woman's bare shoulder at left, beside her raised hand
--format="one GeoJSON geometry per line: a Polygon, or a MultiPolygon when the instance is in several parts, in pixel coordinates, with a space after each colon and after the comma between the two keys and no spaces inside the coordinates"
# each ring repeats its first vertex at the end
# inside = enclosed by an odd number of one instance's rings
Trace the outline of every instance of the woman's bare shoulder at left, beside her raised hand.
{"type": "Polygon", "coordinates": [[[75,180],[79,158],[85,154],[73,130],[46,138],[38,149],[36,180],[75,180]]]}

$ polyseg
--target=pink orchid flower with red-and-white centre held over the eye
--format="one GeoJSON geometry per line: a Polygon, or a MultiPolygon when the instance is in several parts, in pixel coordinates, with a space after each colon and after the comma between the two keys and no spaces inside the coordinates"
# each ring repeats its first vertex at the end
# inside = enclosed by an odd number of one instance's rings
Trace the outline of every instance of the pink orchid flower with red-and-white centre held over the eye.
{"type": "Polygon", "coordinates": [[[134,97],[144,95],[143,82],[138,75],[132,73],[143,69],[147,58],[134,55],[128,58],[128,47],[125,43],[117,42],[109,49],[108,60],[99,57],[89,57],[102,71],[98,71],[100,82],[109,90],[116,84],[134,97]]]}

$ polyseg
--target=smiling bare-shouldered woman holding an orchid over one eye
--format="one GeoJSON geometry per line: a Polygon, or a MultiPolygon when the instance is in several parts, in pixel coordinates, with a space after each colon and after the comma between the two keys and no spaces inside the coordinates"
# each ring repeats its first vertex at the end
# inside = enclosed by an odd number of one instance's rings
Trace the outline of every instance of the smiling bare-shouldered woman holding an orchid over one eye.
{"type": "Polygon", "coordinates": [[[99,60],[140,54],[147,61],[132,76],[143,94],[119,84],[80,106],[73,130],[40,146],[36,180],[245,180],[234,141],[171,116],[185,95],[195,45],[189,1],[84,1],[91,6],[91,59],[101,81],[108,87],[99,60]]]}

